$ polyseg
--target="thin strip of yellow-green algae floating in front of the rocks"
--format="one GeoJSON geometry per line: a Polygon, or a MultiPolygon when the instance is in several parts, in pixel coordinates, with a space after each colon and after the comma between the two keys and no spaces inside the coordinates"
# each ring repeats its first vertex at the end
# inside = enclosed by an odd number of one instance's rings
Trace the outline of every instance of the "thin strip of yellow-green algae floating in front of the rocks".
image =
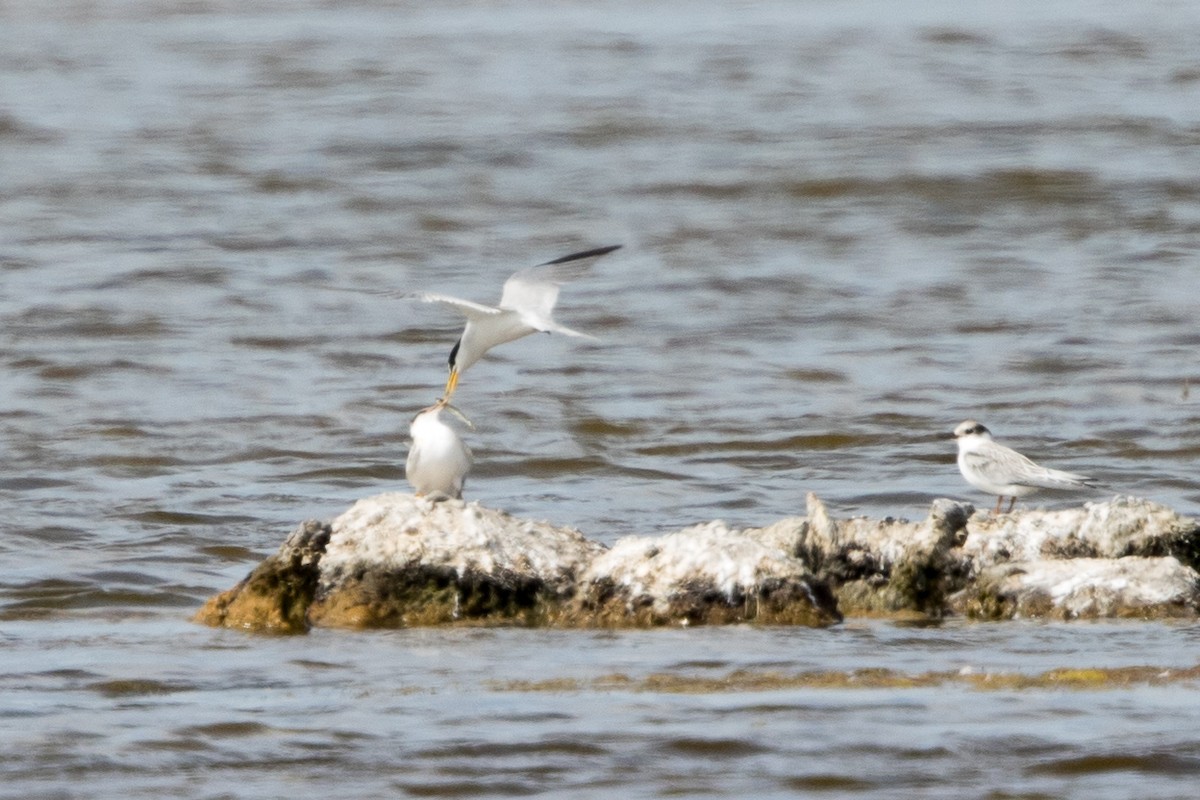
{"type": "Polygon", "coordinates": [[[506,692],[653,692],[661,694],[725,694],[736,692],[776,692],[792,690],[896,690],[961,686],[976,691],[1112,691],[1132,686],[1164,686],[1200,682],[1200,666],[1172,669],[1164,667],[1058,668],[1038,674],[942,672],[905,673],[888,668],[850,670],[734,669],[724,675],[689,673],[650,673],[631,678],[624,673],[601,675],[592,680],[544,679],[536,681],[497,681],[496,691],[506,692]]]}

